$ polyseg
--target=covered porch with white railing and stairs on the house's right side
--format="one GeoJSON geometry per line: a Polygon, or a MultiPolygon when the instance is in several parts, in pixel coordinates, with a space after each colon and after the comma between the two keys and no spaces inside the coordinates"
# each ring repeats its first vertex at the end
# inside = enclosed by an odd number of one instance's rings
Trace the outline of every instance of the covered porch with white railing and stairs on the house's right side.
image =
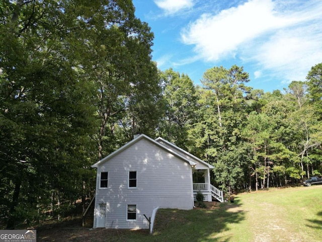
{"type": "Polygon", "coordinates": [[[201,192],[204,195],[204,201],[211,202],[212,198],[215,198],[219,202],[223,202],[222,191],[210,184],[209,169],[193,169],[192,179],[194,197],[197,192],[201,192]]]}

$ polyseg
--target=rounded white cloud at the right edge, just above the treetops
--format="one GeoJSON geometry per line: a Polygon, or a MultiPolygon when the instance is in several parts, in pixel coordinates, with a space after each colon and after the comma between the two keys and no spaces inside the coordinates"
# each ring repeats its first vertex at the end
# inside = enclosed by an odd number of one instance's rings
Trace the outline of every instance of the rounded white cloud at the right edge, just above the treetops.
{"type": "Polygon", "coordinates": [[[255,49],[253,59],[286,82],[304,81],[310,67],[322,61],[322,33],[313,32],[311,26],[281,30],[255,49]]]}

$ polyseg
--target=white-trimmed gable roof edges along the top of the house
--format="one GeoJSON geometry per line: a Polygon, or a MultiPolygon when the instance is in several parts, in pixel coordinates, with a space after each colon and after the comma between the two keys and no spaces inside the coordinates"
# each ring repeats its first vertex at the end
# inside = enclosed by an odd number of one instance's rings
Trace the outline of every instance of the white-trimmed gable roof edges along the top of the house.
{"type": "MultiPolygon", "coordinates": [[[[111,153],[111,154],[109,154],[108,156],[106,156],[106,157],[104,157],[103,159],[101,159],[100,161],[98,161],[98,162],[96,162],[94,165],[92,165],[92,167],[93,168],[97,168],[97,167],[99,167],[99,165],[101,165],[102,163],[104,163],[104,162],[106,162],[106,161],[108,161],[108,160],[110,160],[112,157],[114,157],[115,155],[117,155],[118,153],[121,153],[123,150],[125,150],[126,148],[128,148],[128,147],[130,147],[131,145],[133,145],[133,144],[135,144],[136,142],[138,142],[139,140],[142,140],[142,139],[145,139],[145,140],[147,140],[147,141],[149,141],[149,142],[151,142],[151,143],[153,143],[154,145],[156,145],[156,146],[158,146],[158,147],[160,147],[160,148],[162,148],[162,149],[164,149],[164,150],[166,150],[166,151],[168,151],[169,153],[171,153],[171,154],[173,154],[174,156],[177,156],[178,158],[180,158],[180,159],[182,159],[183,161],[185,161],[185,162],[187,162],[187,163],[189,163],[191,166],[196,166],[196,162],[195,161],[193,161],[193,157],[195,157],[195,156],[193,156],[193,155],[191,155],[190,153],[188,153],[188,152],[186,152],[186,151],[184,151],[184,150],[182,150],[182,149],[180,149],[179,147],[177,147],[177,146],[175,146],[174,144],[172,144],[172,143],[170,143],[170,142],[168,142],[168,141],[166,141],[166,140],[164,140],[164,139],[162,139],[162,138],[157,138],[156,140],[153,140],[153,139],[151,139],[150,137],[148,137],[148,136],[146,136],[146,135],[140,135],[140,136],[138,136],[137,138],[135,138],[135,139],[133,139],[133,140],[131,140],[130,142],[128,142],[127,144],[125,144],[125,145],[123,145],[121,148],[119,148],[118,150],[116,150],[116,151],[114,151],[113,153],[111,153]],[[162,139],[162,141],[163,142],[167,142],[167,144],[171,144],[171,146],[169,147],[169,146],[166,146],[166,145],[164,145],[164,144],[162,144],[162,143],[160,143],[160,140],[159,139],[162,139]],[[187,156],[187,155],[184,155],[184,154],[180,154],[180,152],[177,152],[176,151],[176,149],[177,150],[182,150],[182,151],[184,151],[184,152],[186,152],[187,154],[190,154],[190,156],[187,156]]],[[[182,152],[183,153],[183,152],[182,152]]],[[[200,159],[198,159],[197,157],[195,157],[195,159],[197,159],[198,161],[200,160],[200,159]]],[[[203,163],[206,163],[206,162],[204,162],[204,161],[202,161],[202,160],[200,160],[201,162],[203,162],[203,163]]],[[[206,164],[208,164],[208,163],[206,163],[206,164]]],[[[209,165],[209,164],[208,164],[209,165]]],[[[210,165],[211,166],[211,165],[210,165]]],[[[209,167],[209,166],[208,166],[209,167]]],[[[210,168],[210,167],[209,167],[210,168]]]]}

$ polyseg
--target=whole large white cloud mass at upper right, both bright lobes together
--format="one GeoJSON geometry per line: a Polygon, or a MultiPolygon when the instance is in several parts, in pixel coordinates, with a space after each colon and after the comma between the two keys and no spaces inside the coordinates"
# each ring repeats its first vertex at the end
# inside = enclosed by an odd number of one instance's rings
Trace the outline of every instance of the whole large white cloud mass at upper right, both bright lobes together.
{"type": "Polygon", "coordinates": [[[320,0],[250,0],[217,15],[202,15],[181,37],[206,62],[237,57],[276,76],[302,80],[322,61],[321,13],[320,0]]]}

